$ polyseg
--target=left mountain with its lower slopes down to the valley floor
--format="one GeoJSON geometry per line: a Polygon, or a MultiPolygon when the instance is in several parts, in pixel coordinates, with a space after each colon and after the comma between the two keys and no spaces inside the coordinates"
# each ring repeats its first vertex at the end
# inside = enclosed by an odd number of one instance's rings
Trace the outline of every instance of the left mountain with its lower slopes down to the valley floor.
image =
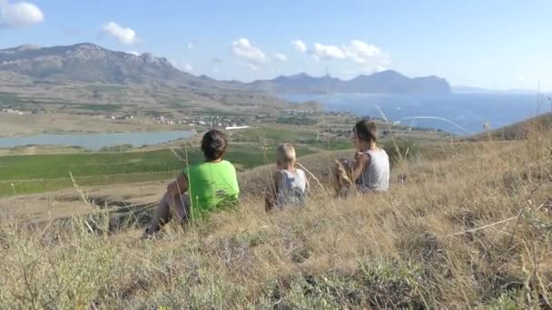
{"type": "Polygon", "coordinates": [[[151,53],[115,52],[95,44],[0,50],[0,105],[26,111],[236,113],[286,106],[240,84],[183,73],[151,53]],[[75,109],[75,107],[88,107],[75,109]],[[104,108],[107,107],[107,108],[104,108]],[[61,109],[60,109],[61,108],[61,109]],[[84,111],[83,111],[84,110],[84,111]]]}

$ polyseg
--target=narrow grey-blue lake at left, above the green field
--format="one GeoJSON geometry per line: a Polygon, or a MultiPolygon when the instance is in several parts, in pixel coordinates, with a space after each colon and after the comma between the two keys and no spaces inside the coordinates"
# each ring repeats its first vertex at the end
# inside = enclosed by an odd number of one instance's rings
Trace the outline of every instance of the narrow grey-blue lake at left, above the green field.
{"type": "Polygon", "coordinates": [[[0,137],[0,148],[15,148],[25,145],[64,145],[78,146],[88,150],[100,150],[104,147],[132,144],[140,147],[191,137],[195,131],[156,131],[123,133],[71,133],[37,134],[24,137],[0,137]]]}

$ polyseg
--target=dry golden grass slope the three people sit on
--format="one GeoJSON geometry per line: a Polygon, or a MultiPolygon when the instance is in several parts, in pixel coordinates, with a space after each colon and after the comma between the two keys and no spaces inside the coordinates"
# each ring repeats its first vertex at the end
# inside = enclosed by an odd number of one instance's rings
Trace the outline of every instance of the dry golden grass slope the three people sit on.
{"type": "Polygon", "coordinates": [[[5,218],[0,307],[549,308],[551,147],[540,129],[444,144],[399,162],[386,194],[317,191],[307,208],[269,215],[250,195],[153,241],[103,234],[102,213],[63,228],[5,218]]]}

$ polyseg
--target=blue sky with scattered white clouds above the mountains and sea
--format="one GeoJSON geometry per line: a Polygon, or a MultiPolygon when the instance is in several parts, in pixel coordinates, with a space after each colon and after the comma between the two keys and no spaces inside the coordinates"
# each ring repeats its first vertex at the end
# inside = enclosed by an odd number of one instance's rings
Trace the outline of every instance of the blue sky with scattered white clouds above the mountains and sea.
{"type": "Polygon", "coordinates": [[[550,0],[0,0],[0,49],[87,42],[244,82],[392,69],[550,92],[550,12],[550,0]]]}

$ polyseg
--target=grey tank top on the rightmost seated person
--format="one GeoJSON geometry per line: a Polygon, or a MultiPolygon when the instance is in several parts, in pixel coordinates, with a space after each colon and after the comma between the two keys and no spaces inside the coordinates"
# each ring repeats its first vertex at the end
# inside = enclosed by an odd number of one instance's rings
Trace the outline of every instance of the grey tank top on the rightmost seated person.
{"type": "Polygon", "coordinates": [[[367,150],[370,156],[368,167],[362,172],[361,185],[372,191],[389,189],[389,156],[385,150],[367,150]]]}

